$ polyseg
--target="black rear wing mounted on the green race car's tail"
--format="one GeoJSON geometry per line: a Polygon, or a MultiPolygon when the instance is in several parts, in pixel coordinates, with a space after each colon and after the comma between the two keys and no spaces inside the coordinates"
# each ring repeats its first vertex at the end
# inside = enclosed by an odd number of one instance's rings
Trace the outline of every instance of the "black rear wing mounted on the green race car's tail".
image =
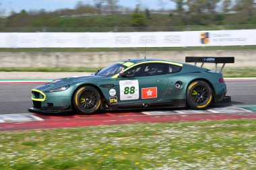
{"type": "Polygon", "coordinates": [[[226,63],[234,63],[234,56],[186,56],[186,62],[195,62],[195,66],[197,66],[197,62],[201,62],[201,67],[203,67],[204,63],[215,63],[215,71],[218,69],[218,63],[223,63],[222,68],[220,69],[220,73],[222,73],[226,63]]]}

